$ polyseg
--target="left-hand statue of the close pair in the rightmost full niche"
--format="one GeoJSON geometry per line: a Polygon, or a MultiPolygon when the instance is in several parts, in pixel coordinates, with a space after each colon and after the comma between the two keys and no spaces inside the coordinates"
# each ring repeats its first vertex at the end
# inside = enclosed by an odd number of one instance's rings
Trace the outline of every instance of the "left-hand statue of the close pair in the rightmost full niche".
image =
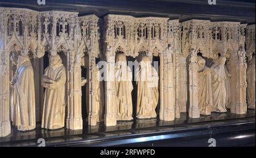
{"type": "Polygon", "coordinates": [[[205,66],[205,59],[197,56],[198,70],[198,100],[199,110],[202,115],[210,115],[213,108],[212,76],[213,69],[205,66]]]}

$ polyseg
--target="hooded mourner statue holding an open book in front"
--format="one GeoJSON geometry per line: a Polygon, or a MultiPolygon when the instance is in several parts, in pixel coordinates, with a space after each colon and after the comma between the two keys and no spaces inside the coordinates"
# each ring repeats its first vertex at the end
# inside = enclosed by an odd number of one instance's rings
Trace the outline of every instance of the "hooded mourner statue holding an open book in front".
{"type": "Polygon", "coordinates": [[[44,106],[42,128],[60,129],[64,127],[65,119],[65,83],[66,72],[60,55],[49,57],[49,66],[44,71],[42,86],[44,92],[44,106]]]}

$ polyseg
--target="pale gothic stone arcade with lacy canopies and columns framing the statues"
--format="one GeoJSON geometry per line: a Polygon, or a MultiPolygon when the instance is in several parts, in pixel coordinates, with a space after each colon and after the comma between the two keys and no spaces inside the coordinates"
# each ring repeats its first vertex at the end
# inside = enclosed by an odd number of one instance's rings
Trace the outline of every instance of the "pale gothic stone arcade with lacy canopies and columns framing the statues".
{"type": "MultiPolygon", "coordinates": [[[[191,118],[200,117],[198,52],[208,59],[207,62],[217,59],[219,53],[228,58],[226,66],[230,70],[232,88],[230,111],[235,114],[247,111],[246,69],[251,54],[255,52],[255,25],[209,20],[180,23],[168,18],[126,15],[106,15],[100,19],[96,15],[78,16],[78,12],[0,7],[0,136],[11,132],[9,81],[16,70],[10,62],[11,54],[30,56],[35,72],[36,121],[42,116],[44,56],[61,55],[67,71],[65,127],[79,130],[82,129],[81,107],[85,106],[81,104],[84,97],[81,59],[88,55],[88,122],[95,126],[96,79],[93,72],[96,58],[106,61],[111,69],[112,58],[117,52],[133,58],[142,52],[150,58],[153,55],[159,57],[159,117],[163,121],[173,121],[180,117],[181,112],[188,112],[191,118]]],[[[107,78],[111,75],[107,71],[107,78]]],[[[116,109],[112,104],[114,87],[113,81],[105,81],[106,126],[117,124],[116,109]]]]}

